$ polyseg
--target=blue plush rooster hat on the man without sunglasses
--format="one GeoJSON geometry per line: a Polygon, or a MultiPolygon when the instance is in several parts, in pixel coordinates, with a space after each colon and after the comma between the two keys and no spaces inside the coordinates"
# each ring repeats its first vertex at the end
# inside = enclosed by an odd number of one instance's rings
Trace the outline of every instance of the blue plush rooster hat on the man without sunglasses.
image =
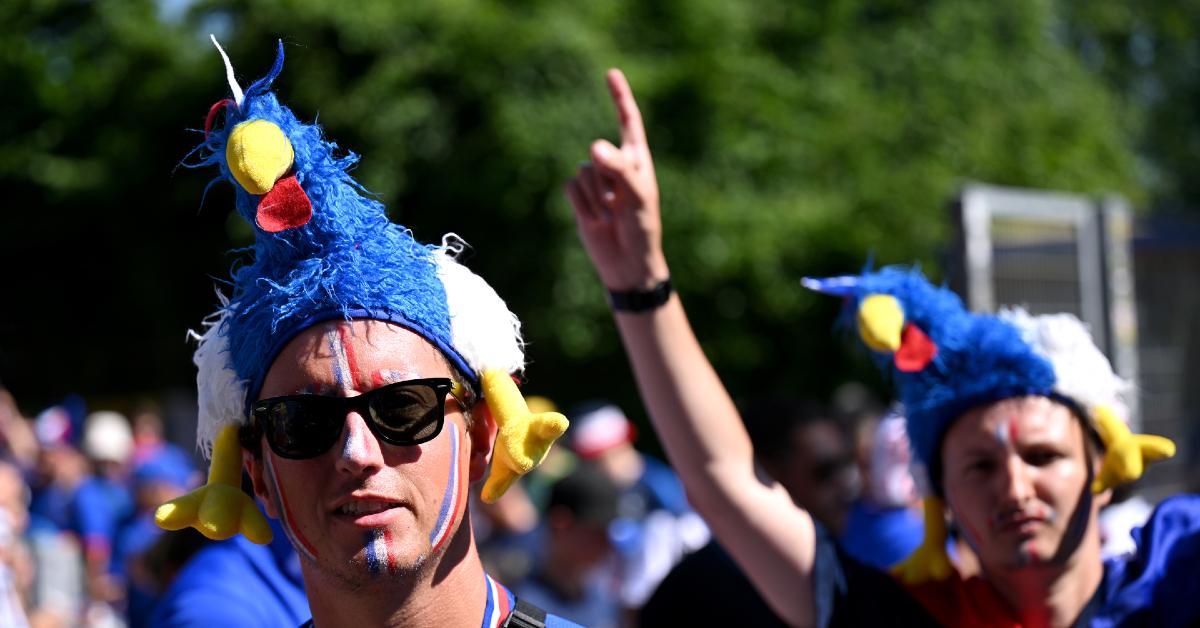
{"type": "MultiPolygon", "coordinates": [[[[1133,482],[1146,462],[1175,453],[1166,438],[1129,431],[1122,401],[1129,385],[1112,372],[1087,328],[1072,315],[1032,316],[1020,309],[970,312],[948,288],[900,267],[805,279],[804,286],[845,299],[842,321],[857,328],[859,340],[892,377],[913,453],[928,469],[940,468],[942,438],[965,412],[1025,395],[1066,403],[1099,436],[1105,453],[1093,492],[1133,482]]],[[[929,479],[930,488],[941,492],[938,478],[929,479]]],[[[942,508],[936,495],[926,498],[925,543],[901,563],[901,578],[948,575],[942,508]]]]}

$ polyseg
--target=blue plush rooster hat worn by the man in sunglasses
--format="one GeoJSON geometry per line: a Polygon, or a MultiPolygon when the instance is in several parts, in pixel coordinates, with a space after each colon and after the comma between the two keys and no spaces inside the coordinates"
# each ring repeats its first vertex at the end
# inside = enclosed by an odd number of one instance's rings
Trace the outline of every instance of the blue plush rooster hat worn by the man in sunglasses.
{"type": "Polygon", "coordinates": [[[402,325],[480,388],[499,426],[484,498],[498,498],[566,427],[560,414],[529,413],[516,389],[512,376],[524,366],[516,316],[456,262],[461,240],[420,244],[390,222],[348,173],[358,155],[338,155],[319,126],[280,104],[269,89],[283,68],[282,42],[271,71],[245,92],[217,50],[232,97],[209,110],[199,166],[217,166],[217,181],[233,185],[239,215],[254,227],[253,261],[234,270],[233,294],[220,295],[221,307],[197,336],[197,443],[212,459],[209,484],[161,507],[160,525],[269,539],[257,508],[245,508],[248,496],[229,490],[240,478],[238,427],[288,341],[331,319],[402,325]],[[224,124],[214,128],[222,112],[224,124]]]}

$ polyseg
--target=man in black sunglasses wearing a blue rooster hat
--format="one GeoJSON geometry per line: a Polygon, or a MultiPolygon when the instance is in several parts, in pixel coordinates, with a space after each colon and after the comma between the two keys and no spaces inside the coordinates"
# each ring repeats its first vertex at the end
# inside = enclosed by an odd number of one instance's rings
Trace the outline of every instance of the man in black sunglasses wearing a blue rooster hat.
{"type": "Polygon", "coordinates": [[[491,465],[494,501],[566,429],[516,388],[516,317],[455,261],[460,240],[391,223],[348,174],[358,156],[280,104],[282,42],[245,91],[221,55],[232,94],[198,150],[256,243],[198,337],[209,482],[158,525],[266,543],[245,468],[301,557],[317,627],[569,626],[488,576],[470,530],[467,486],[491,465]]]}

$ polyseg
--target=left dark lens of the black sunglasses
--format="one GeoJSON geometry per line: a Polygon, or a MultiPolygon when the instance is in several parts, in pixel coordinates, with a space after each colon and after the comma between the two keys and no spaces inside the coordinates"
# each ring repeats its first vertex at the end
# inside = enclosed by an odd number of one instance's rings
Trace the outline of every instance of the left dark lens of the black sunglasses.
{"type": "Polygon", "coordinates": [[[318,456],[342,432],[342,418],[328,400],[316,395],[278,400],[266,408],[266,441],[283,457],[318,456]]]}

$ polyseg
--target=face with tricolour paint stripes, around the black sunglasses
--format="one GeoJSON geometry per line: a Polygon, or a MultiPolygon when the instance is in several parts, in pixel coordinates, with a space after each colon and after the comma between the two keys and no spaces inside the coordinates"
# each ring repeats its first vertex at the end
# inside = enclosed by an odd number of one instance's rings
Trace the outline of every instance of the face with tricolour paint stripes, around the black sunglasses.
{"type": "MultiPolygon", "coordinates": [[[[377,321],[335,322],[288,343],[259,397],[354,396],[426,377],[451,372],[422,337],[377,321]]],[[[344,423],[341,437],[308,460],[278,457],[264,438],[262,460],[250,462],[256,494],[307,567],[347,582],[412,574],[444,551],[462,522],[467,484],[482,469],[478,438],[449,396],[442,432],[419,445],[379,441],[358,412],[335,419],[344,423]]]]}

